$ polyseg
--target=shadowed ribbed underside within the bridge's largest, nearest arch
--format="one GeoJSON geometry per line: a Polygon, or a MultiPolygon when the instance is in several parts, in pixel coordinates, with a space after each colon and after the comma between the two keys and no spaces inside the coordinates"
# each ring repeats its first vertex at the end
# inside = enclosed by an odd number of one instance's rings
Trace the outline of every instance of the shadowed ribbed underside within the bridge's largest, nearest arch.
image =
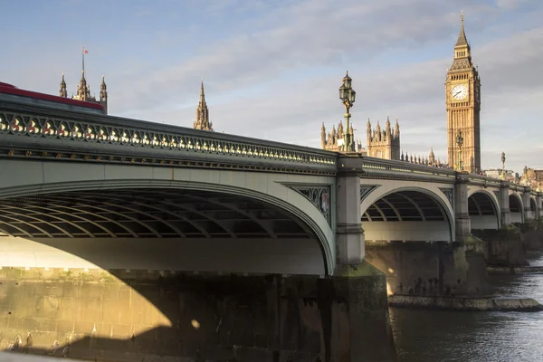
{"type": "Polygon", "coordinates": [[[326,273],[317,236],[297,216],[218,192],[137,188],[5,198],[0,235],[0,248],[16,251],[0,266],[326,273]]]}

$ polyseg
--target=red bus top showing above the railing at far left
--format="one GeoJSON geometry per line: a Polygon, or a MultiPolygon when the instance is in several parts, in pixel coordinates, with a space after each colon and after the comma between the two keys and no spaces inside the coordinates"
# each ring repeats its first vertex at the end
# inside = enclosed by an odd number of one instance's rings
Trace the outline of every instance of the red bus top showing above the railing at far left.
{"type": "Polygon", "coordinates": [[[60,110],[73,110],[79,112],[106,114],[106,110],[99,104],[82,100],[52,96],[31,90],[20,90],[12,84],[0,81],[0,100],[11,100],[37,106],[51,107],[60,110]]]}

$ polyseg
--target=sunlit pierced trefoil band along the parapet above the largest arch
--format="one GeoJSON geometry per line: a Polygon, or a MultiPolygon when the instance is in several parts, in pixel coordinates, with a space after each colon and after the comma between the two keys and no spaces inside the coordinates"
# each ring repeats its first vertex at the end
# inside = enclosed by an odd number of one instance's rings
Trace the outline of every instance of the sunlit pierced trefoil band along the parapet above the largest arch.
{"type": "MultiPolygon", "coordinates": [[[[144,122],[142,122],[144,123],[144,122]]],[[[47,118],[31,114],[0,110],[0,133],[37,138],[55,138],[65,141],[99,142],[100,144],[123,145],[127,147],[163,148],[186,152],[226,155],[232,157],[266,158],[282,162],[312,164],[319,166],[336,165],[336,155],[320,154],[300,149],[278,148],[261,144],[221,139],[220,135],[195,136],[177,133],[157,132],[145,124],[136,128],[124,128],[103,122],[85,119],[47,118]]]]}

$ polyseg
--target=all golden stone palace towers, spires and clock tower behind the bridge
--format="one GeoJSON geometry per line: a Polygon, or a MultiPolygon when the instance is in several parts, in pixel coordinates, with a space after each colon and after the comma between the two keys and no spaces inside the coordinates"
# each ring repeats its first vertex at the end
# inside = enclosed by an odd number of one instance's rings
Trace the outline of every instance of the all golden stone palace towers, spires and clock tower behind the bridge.
{"type": "MultiPolygon", "coordinates": [[[[454,57],[452,66],[447,70],[445,81],[445,100],[447,110],[447,160],[442,163],[440,159],[433,154],[433,149],[428,157],[414,157],[413,155],[404,155],[400,148],[400,126],[398,120],[392,128],[390,120],[387,118],[385,129],[381,129],[377,121],[376,129],[372,129],[369,119],[367,119],[366,142],[367,147],[363,148],[360,140],[354,142],[355,152],[363,156],[379,157],[386,159],[402,160],[411,163],[424,164],[435,167],[462,168],[472,173],[481,173],[481,78],[477,67],[473,66],[471,46],[468,43],[464,33],[463,14],[458,39],[454,45],[454,57]],[[458,136],[462,135],[462,143],[459,145],[458,136]],[[462,152],[461,152],[462,149],[462,152]],[[459,159],[460,158],[460,159],[459,159]]],[[[59,95],[67,97],[66,82],[62,75],[59,95]]],[[[108,92],[104,77],[102,76],[100,84],[100,98],[90,95],[90,86],[85,79],[84,70],[81,73],[81,81],[77,87],[77,92],[71,97],[74,100],[86,100],[99,103],[107,113],[108,92]]],[[[213,123],[209,120],[209,110],[205,102],[204,81],[200,86],[200,100],[196,108],[194,129],[214,131],[213,123]]],[[[338,145],[341,144],[344,132],[350,133],[350,138],[354,138],[354,129],[352,123],[348,130],[344,129],[341,121],[327,134],[324,122],[320,129],[320,147],[330,151],[340,151],[338,145]]],[[[523,179],[529,182],[529,173],[534,173],[531,168],[525,167],[523,179]]],[[[543,188],[543,172],[535,171],[537,174],[538,185],[543,188]],[[541,174],[541,175],[539,175],[541,174]]]]}

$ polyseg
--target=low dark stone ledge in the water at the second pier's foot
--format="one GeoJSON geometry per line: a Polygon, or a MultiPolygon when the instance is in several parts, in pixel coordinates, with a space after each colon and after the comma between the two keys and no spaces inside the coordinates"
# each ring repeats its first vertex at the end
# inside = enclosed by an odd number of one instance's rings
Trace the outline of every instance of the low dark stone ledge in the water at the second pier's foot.
{"type": "Polygon", "coordinates": [[[467,298],[435,297],[414,295],[391,295],[388,306],[395,308],[424,310],[477,310],[477,311],[540,311],[543,310],[537,300],[531,298],[467,298]]]}

